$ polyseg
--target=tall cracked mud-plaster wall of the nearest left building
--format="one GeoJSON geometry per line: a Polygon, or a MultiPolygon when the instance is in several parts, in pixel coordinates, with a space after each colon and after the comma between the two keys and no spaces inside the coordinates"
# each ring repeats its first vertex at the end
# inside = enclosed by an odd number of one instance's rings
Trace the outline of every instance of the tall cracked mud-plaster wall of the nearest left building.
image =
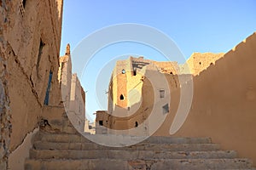
{"type": "MultiPolygon", "coordinates": [[[[62,1],[26,1],[25,7],[20,6],[20,2],[1,3],[1,58],[5,60],[8,74],[6,93],[12,127],[7,147],[10,151],[22,143],[27,133],[38,127],[49,71],[53,72],[49,105],[60,103],[57,71],[62,1]]],[[[1,125],[6,122],[1,122],[1,125]]]]}

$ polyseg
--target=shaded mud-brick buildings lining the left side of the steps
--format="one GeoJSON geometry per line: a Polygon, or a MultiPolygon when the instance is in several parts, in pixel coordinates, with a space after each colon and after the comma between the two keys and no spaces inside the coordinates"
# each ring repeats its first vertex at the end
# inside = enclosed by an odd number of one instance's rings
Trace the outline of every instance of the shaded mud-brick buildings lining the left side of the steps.
{"type": "MultiPolygon", "coordinates": [[[[76,75],[61,71],[70,52],[59,61],[62,6],[62,0],[0,2],[0,169],[24,167],[32,134],[65,117],[63,104],[79,114],[84,130],[84,90],[76,75]],[[69,88],[67,100],[61,85],[69,88]],[[83,96],[79,104],[73,102],[78,94],[83,96]]],[[[50,130],[73,130],[59,124],[50,130]]]]}

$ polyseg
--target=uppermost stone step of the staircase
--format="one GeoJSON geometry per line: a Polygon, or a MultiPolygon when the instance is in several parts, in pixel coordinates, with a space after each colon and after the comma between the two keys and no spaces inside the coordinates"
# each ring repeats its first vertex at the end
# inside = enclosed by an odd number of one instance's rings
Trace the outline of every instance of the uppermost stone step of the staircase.
{"type": "MultiPolygon", "coordinates": [[[[126,139],[127,141],[136,141],[140,137],[135,136],[122,136],[122,135],[89,135],[90,139],[99,139],[101,141],[111,139],[113,142],[118,143],[120,140],[126,139]]],[[[90,142],[81,134],[70,134],[70,133],[37,133],[34,136],[34,141],[47,141],[57,143],[70,143],[70,142],[90,142]]],[[[95,140],[94,140],[95,141],[95,140]]],[[[212,140],[210,138],[174,138],[174,137],[149,137],[143,143],[153,144],[210,144],[212,140]]]]}

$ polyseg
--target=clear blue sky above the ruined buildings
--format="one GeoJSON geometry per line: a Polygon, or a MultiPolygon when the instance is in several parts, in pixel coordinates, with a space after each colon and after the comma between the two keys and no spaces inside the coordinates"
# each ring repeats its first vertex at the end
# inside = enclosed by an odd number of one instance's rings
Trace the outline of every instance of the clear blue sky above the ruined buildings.
{"type": "MultiPolygon", "coordinates": [[[[122,23],[148,25],[165,32],[176,42],[185,58],[189,58],[193,52],[227,52],[256,31],[256,1],[64,0],[61,55],[65,53],[67,43],[70,43],[73,51],[90,33],[102,27],[122,23]]],[[[107,94],[101,88],[96,95],[95,87],[96,82],[100,82],[108,90],[109,77],[101,80],[96,77],[102,71],[110,74],[114,65],[114,61],[108,63],[111,57],[139,54],[150,59],[162,60],[160,54],[153,49],[141,46],[121,43],[104,48],[96,54],[94,63],[98,62],[101,68],[90,65],[90,76],[81,78],[84,90],[88,90],[87,115],[93,117],[94,111],[107,110],[107,94]],[[96,96],[100,96],[101,99],[96,99],[96,96]],[[97,104],[97,100],[100,100],[98,103],[101,105],[97,104]]]]}

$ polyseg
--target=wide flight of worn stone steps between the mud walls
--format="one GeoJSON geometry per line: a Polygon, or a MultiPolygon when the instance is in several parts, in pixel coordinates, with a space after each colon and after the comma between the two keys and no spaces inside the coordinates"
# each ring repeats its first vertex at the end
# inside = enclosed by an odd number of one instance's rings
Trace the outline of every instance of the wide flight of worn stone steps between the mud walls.
{"type": "Polygon", "coordinates": [[[61,131],[41,128],[35,134],[26,170],[253,169],[251,161],[237,158],[234,150],[220,150],[210,138],[150,137],[131,146],[108,147],[91,142],[68,126],[66,132],[63,127],[61,131]]]}

